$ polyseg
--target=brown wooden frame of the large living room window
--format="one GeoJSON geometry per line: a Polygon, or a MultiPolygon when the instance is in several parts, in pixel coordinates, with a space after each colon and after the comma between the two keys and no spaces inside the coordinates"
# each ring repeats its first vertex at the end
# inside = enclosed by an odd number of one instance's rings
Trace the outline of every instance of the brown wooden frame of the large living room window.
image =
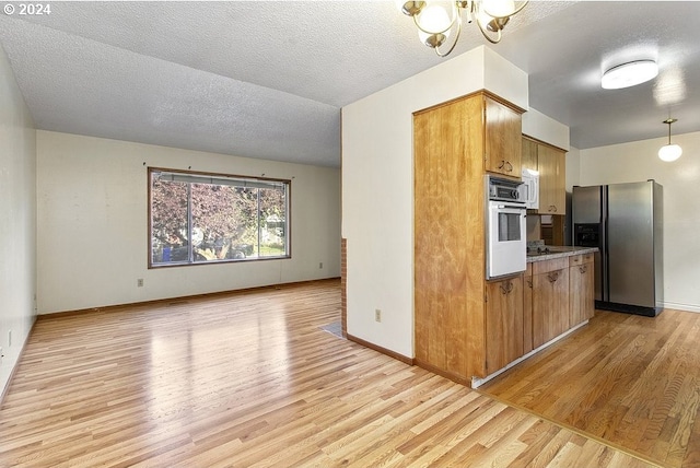
{"type": "MultiPolygon", "coordinates": [[[[236,262],[247,262],[247,261],[265,261],[265,260],[283,260],[292,258],[292,217],[291,217],[291,208],[292,208],[292,180],[283,179],[283,178],[272,178],[265,177],[265,174],[261,176],[244,176],[244,175],[235,175],[235,174],[222,174],[222,173],[211,173],[211,172],[199,172],[191,169],[173,169],[173,168],[164,168],[164,167],[148,167],[147,171],[147,204],[148,204],[148,269],[160,269],[160,268],[175,268],[175,267],[191,267],[199,265],[221,265],[221,264],[236,264],[236,262]],[[270,257],[246,257],[246,258],[224,258],[224,259],[215,259],[209,261],[196,261],[196,260],[186,260],[186,261],[175,261],[175,262],[154,262],[153,261],[153,202],[152,202],[152,177],[154,173],[165,173],[172,174],[174,176],[182,176],[183,182],[186,184],[212,184],[215,185],[217,180],[228,182],[228,184],[219,184],[219,185],[231,185],[231,186],[245,186],[245,183],[249,183],[253,188],[264,188],[260,187],[264,184],[281,184],[285,188],[285,197],[284,197],[284,210],[285,210],[285,219],[284,219],[284,247],[285,254],[279,256],[270,256],[270,257]],[[188,182],[187,178],[191,178],[192,180],[188,182]],[[201,180],[196,180],[196,179],[201,180]],[[256,186],[257,184],[257,186],[256,186]]],[[[188,189],[189,191],[189,189],[188,189]]],[[[191,243],[191,206],[187,206],[187,218],[188,218],[188,230],[189,230],[189,242],[191,243]]],[[[258,233],[260,232],[260,212],[258,211],[258,233]]],[[[258,234],[258,251],[260,246],[260,236],[258,234]]],[[[258,254],[259,255],[259,254],[258,254]]],[[[194,257],[192,257],[194,258],[194,257]]]]}

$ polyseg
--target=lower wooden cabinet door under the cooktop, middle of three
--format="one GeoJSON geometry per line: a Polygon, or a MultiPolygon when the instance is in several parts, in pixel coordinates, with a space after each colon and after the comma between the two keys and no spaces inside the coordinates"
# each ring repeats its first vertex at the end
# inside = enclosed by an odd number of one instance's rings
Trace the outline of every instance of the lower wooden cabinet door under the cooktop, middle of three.
{"type": "Polygon", "coordinates": [[[569,327],[569,267],[533,276],[533,347],[569,327]]]}

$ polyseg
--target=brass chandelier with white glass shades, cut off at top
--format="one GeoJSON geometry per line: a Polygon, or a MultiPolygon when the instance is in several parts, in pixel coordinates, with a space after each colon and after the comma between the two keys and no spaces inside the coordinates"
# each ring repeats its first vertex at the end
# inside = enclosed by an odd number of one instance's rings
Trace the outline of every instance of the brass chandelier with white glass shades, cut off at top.
{"type": "Polygon", "coordinates": [[[418,37],[428,47],[435,49],[440,57],[452,52],[462,33],[462,15],[466,13],[467,23],[476,21],[481,34],[490,43],[501,40],[503,27],[511,16],[520,12],[528,0],[467,0],[467,1],[406,1],[398,0],[398,7],[413,19],[418,27],[418,37]],[[516,4],[517,3],[517,4],[516,4]],[[446,51],[440,49],[454,35],[446,51]]]}

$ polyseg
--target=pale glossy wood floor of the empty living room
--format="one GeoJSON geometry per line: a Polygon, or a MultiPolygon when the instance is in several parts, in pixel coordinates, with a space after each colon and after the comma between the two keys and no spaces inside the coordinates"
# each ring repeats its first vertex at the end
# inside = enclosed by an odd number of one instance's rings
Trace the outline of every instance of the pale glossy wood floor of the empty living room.
{"type": "Polygon", "coordinates": [[[0,466],[653,466],[338,338],[339,281],[39,319],[0,466]]]}

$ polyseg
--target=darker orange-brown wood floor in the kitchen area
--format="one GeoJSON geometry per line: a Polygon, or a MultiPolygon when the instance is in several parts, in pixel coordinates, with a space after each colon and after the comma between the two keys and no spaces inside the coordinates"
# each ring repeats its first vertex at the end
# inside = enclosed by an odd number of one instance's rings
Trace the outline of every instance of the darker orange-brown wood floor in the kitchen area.
{"type": "Polygon", "coordinates": [[[660,465],[699,467],[700,314],[596,311],[480,390],[660,465]]]}

